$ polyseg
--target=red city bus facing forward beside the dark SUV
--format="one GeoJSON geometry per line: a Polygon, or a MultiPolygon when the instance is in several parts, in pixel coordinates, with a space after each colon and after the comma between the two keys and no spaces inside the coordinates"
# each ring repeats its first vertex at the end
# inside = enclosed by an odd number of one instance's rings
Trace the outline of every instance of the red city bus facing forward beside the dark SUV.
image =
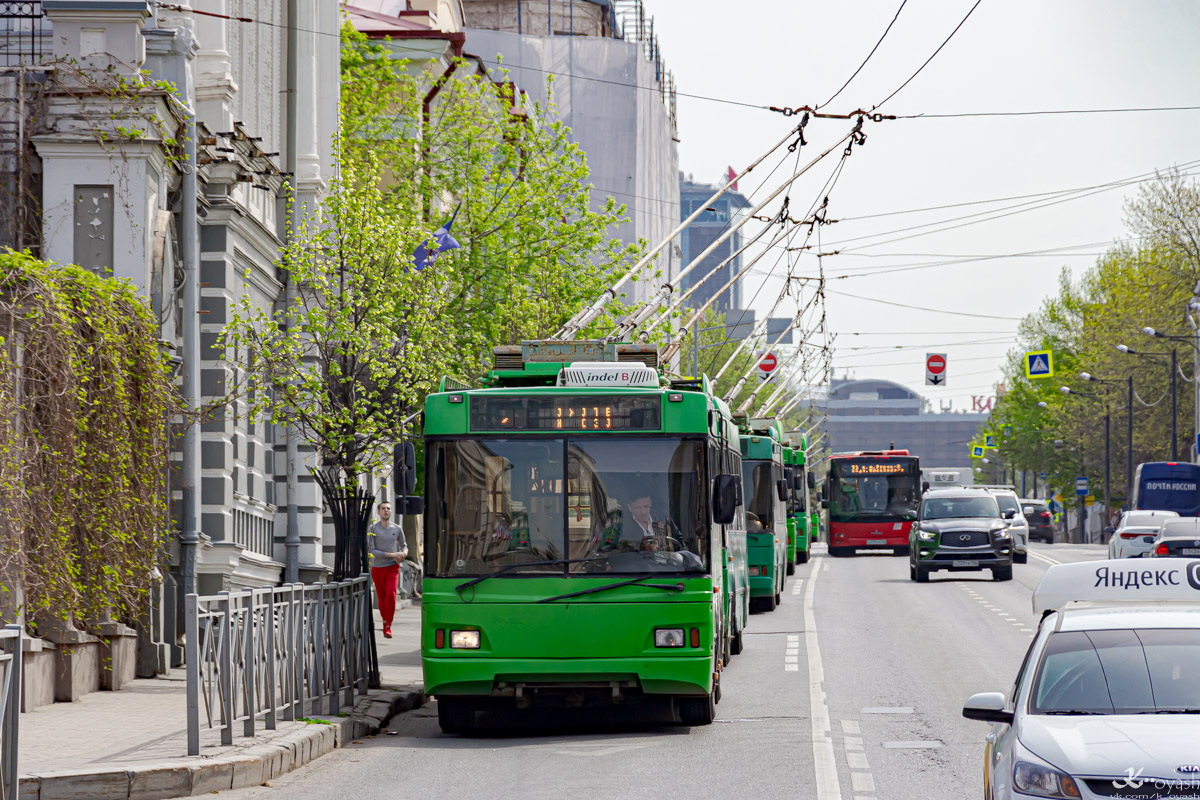
{"type": "Polygon", "coordinates": [[[829,555],[880,548],[907,555],[920,494],[920,463],[907,450],[830,456],[822,503],[829,510],[829,555]]]}

